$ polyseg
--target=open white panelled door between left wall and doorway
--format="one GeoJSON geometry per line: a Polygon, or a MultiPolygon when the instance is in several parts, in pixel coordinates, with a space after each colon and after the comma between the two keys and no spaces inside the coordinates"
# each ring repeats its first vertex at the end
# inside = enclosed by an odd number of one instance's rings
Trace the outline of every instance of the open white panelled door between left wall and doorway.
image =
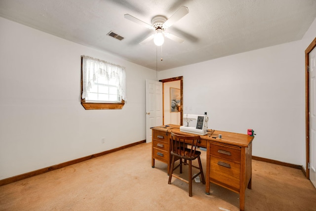
{"type": "Polygon", "coordinates": [[[146,143],[152,142],[151,127],[162,125],[162,82],[146,79],[146,143]]]}

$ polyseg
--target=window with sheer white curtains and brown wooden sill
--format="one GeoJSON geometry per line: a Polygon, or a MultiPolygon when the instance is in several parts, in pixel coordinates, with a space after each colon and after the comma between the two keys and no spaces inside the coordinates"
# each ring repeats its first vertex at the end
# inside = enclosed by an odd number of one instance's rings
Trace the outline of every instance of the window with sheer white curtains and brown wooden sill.
{"type": "Polygon", "coordinates": [[[124,67],[81,56],[81,71],[81,104],[85,109],[121,109],[124,106],[124,67]]]}

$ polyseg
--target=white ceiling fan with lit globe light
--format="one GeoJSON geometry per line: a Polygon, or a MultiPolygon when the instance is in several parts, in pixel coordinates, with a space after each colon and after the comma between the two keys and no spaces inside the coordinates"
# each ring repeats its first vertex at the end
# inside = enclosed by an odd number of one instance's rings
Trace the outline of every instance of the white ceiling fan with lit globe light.
{"type": "Polygon", "coordinates": [[[125,14],[124,18],[133,21],[137,24],[140,24],[148,29],[152,29],[156,31],[156,33],[150,35],[149,37],[145,38],[140,44],[144,44],[146,42],[149,42],[154,39],[154,42],[157,46],[160,46],[164,42],[164,37],[173,40],[175,42],[182,43],[184,40],[182,38],[179,38],[178,36],[175,36],[173,34],[165,32],[165,30],[169,27],[171,27],[175,22],[183,18],[186,14],[189,13],[189,9],[186,6],[181,6],[173,15],[166,19],[162,15],[157,15],[152,19],[152,25],[145,23],[144,21],[139,20],[138,18],[135,18],[134,16],[131,16],[130,14],[125,14]]]}

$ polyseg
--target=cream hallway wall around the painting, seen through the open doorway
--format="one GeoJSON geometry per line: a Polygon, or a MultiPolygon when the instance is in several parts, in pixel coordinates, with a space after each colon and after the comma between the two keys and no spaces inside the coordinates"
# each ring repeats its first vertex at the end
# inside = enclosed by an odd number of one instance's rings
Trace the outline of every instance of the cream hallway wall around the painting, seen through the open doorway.
{"type": "Polygon", "coordinates": [[[180,81],[173,81],[173,82],[166,82],[163,83],[163,120],[164,125],[166,124],[174,124],[174,125],[180,125],[181,121],[181,113],[180,112],[170,112],[171,106],[170,106],[170,87],[172,88],[181,88],[180,81]]]}

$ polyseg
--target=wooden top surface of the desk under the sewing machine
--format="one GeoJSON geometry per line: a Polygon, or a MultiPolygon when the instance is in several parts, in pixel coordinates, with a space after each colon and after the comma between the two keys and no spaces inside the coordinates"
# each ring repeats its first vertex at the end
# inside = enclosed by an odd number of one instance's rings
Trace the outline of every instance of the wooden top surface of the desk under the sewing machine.
{"type": "MultiPolygon", "coordinates": [[[[176,133],[182,133],[187,135],[194,135],[191,133],[181,132],[180,126],[178,125],[166,125],[163,126],[157,126],[152,127],[152,129],[161,130],[165,132],[176,132],[176,133]]],[[[250,136],[247,134],[241,134],[241,133],[235,133],[235,132],[226,132],[226,131],[220,131],[220,130],[208,130],[206,135],[200,135],[201,139],[218,142],[218,143],[225,143],[225,144],[231,144],[236,145],[240,147],[248,147],[249,144],[252,142],[254,136],[250,136]],[[218,138],[218,135],[221,134],[222,138],[218,138]],[[216,138],[213,138],[216,137],[216,138]]]]}

